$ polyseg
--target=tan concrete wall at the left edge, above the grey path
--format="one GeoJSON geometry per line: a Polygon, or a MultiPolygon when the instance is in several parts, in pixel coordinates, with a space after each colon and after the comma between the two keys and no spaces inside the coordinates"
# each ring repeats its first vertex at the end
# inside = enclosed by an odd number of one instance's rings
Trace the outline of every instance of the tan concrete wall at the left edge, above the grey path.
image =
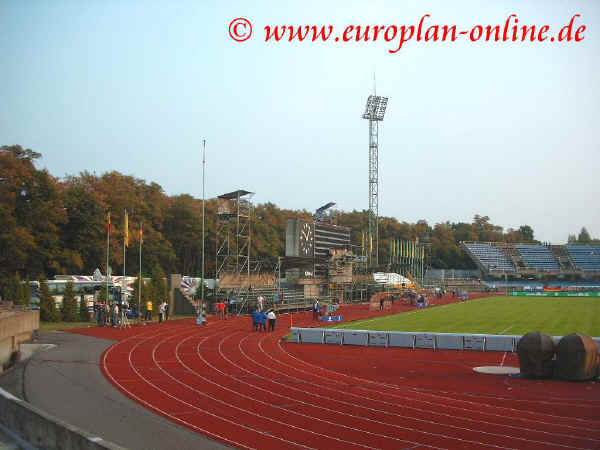
{"type": "Polygon", "coordinates": [[[39,311],[8,311],[0,317],[0,372],[18,351],[21,342],[31,339],[33,331],[40,328],[39,311]]]}

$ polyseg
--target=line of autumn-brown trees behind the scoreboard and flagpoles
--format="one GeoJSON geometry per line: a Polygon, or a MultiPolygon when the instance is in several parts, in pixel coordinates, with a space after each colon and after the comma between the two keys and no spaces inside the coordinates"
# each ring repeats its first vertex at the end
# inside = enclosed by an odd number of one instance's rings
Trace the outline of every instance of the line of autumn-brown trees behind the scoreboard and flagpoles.
{"type": "MultiPolygon", "coordinates": [[[[113,275],[123,273],[124,214],[129,213],[129,241],[125,251],[128,274],[138,274],[138,251],[143,227],[142,274],[201,274],[202,202],[188,194],[168,196],[162,187],[117,171],[102,175],[82,172],[58,179],[36,168],[41,155],[19,145],[0,147],[0,285],[3,298],[14,292],[15,275],[38,280],[56,274],[106,271],[107,218],[111,214],[109,264],[113,275]],[[11,281],[13,280],[13,281],[11,281]]],[[[205,273],[215,273],[216,199],[205,202],[205,273]]],[[[360,246],[368,228],[367,211],[333,211],[333,220],[350,227],[351,240],[360,246]]],[[[285,253],[289,218],[310,220],[306,210],[287,210],[267,202],[254,207],[252,259],[271,261],[285,253]]],[[[529,225],[518,229],[475,215],[471,223],[430,225],[380,217],[380,261],[389,259],[391,239],[416,240],[428,247],[427,264],[436,268],[475,268],[460,249],[460,241],[535,242],[529,225]]],[[[569,236],[571,240],[573,236],[569,236]]],[[[576,242],[593,240],[585,228],[576,242]]],[[[356,250],[359,253],[360,250],[356,250]]],[[[268,265],[268,264],[267,264],[268,265]]]]}

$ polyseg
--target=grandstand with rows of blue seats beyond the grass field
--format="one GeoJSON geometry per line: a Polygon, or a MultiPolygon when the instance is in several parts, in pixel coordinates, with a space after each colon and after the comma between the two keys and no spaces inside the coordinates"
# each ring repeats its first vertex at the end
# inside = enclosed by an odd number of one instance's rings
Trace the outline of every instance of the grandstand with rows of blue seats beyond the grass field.
{"type": "Polygon", "coordinates": [[[600,246],[461,242],[481,278],[600,280],[600,246]]]}

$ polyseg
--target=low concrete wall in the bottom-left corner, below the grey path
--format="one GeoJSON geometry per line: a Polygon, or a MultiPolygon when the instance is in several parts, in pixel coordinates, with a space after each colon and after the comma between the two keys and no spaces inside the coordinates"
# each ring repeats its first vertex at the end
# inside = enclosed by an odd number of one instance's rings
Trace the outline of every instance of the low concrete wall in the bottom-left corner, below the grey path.
{"type": "Polygon", "coordinates": [[[37,409],[0,389],[0,422],[29,444],[48,450],[125,450],[37,409]]]}

